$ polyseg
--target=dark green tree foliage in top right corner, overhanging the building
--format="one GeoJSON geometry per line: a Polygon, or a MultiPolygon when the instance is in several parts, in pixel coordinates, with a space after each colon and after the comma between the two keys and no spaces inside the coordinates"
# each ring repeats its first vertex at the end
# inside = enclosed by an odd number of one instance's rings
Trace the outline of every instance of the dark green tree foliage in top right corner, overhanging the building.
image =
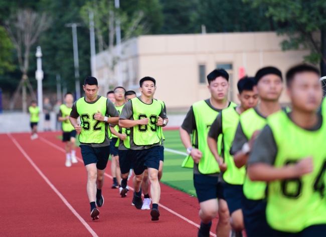
{"type": "Polygon", "coordinates": [[[277,32],[288,39],[283,50],[310,49],[305,61],[320,63],[321,74],[326,74],[326,1],[325,0],[245,0],[254,8],[266,7],[265,15],[277,23],[277,32]]]}

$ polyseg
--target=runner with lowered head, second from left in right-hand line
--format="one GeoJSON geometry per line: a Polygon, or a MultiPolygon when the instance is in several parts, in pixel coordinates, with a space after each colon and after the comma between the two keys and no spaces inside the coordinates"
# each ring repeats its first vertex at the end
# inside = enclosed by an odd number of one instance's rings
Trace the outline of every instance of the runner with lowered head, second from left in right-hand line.
{"type": "MultiPolygon", "coordinates": [[[[239,116],[242,112],[249,108],[253,108],[258,102],[258,93],[256,89],[254,77],[243,77],[238,81],[238,99],[241,104],[238,106],[228,107],[223,109],[212,123],[207,137],[207,143],[213,153],[215,159],[224,159],[224,163],[220,164],[220,169],[226,170],[223,173],[224,196],[228,203],[230,211],[230,224],[234,236],[242,236],[244,229],[242,215],[242,200],[243,200],[243,181],[246,174],[245,167],[237,168],[234,164],[233,156],[230,155],[231,145],[234,139],[234,134],[239,123],[239,116]],[[222,157],[218,152],[217,140],[219,135],[223,135],[223,153],[222,157]]],[[[231,236],[233,236],[231,234],[231,236]]]]}

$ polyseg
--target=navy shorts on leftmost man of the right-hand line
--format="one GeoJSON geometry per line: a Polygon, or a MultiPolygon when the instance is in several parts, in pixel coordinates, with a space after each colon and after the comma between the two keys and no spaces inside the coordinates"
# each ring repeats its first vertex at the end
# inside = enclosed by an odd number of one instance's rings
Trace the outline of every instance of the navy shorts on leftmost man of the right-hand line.
{"type": "Polygon", "coordinates": [[[194,186],[199,202],[210,199],[225,199],[222,183],[219,177],[209,176],[207,174],[194,174],[194,186]]]}

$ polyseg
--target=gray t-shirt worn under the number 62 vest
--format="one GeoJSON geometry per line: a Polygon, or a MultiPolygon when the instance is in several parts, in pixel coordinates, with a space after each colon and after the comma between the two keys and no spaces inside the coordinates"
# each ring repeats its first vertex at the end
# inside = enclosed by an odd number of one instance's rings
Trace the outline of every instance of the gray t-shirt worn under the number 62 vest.
{"type": "MultiPolygon", "coordinates": [[[[86,103],[89,103],[89,104],[93,104],[95,103],[101,96],[98,95],[97,96],[97,99],[95,101],[92,101],[92,102],[87,102],[85,100],[86,103]]],[[[85,99],[85,97],[84,97],[85,99]]],[[[79,113],[77,112],[77,107],[76,107],[76,102],[74,102],[74,104],[72,105],[72,108],[71,108],[71,112],[70,112],[70,116],[71,117],[74,117],[74,118],[78,118],[79,117],[79,113]]],[[[115,106],[114,104],[111,102],[111,100],[107,99],[106,100],[106,112],[105,112],[105,116],[111,116],[111,117],[118,117],[119,116],[119,112],[115,109],[115,106]]],[[[108,128],[109,124],[106,123],[105,124],[105,139],[102,143],[83,143],[83,142],[80,142],[80,145],[89,145],[89,146],[92,146],[92,147],[101,147],[101,146],[107,146],[110,144],[110,140],[109,140],[109,135],[108,135],[108,131],[107,129],[108,128]]],[[[81,130],[81,132],[83,132],[83,129],[81,130]]]]}

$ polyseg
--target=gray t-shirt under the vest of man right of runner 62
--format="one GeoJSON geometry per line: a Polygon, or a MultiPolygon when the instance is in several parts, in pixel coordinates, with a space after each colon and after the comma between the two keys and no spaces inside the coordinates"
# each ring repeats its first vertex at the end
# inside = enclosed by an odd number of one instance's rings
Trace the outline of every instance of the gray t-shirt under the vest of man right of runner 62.
{"type": "MultiPolygon", "coordinates": [[[[140,96],[137,97],[140,101],[141,98],[140,96]]],[[[164,112],[164,108],[162,106],[161,108],[161,112],[159,113],[159,116],[161,118],[167,118],[167,114],[164,112]]],[[[132,109],[132,100],[129,100],[128,102],[125,103],[125,105],[122,108],[121,114],[120,114],[120,118],[119,119],[130,119],[130,120],[134,120],[133,119],[133,109],[132,109]]],[[[136,145],[133,142],[133,127],[130,127],[130,149],[133,150],[141,150],[141,149],[148,149],[152,146],[155,145],[160,145],[160,142],[155,143],[155,144],[151,144],[151,145],[136,145]]]]}

